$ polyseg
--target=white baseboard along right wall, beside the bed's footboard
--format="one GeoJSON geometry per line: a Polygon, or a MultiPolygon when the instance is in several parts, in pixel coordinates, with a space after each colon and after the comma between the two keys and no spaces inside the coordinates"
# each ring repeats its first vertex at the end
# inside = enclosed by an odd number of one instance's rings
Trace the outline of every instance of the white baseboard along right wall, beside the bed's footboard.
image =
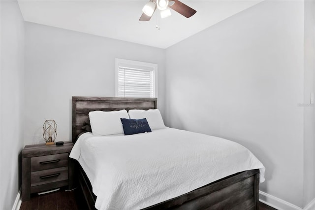
{"type": "Polygon", "coordinates": [[[259,190],[259,201],[277,210],[303,210],[302,208],[298,206],[295,206],[289,202],[286,202],[275,196],[269,195],[260,190],[259,190]]]}

